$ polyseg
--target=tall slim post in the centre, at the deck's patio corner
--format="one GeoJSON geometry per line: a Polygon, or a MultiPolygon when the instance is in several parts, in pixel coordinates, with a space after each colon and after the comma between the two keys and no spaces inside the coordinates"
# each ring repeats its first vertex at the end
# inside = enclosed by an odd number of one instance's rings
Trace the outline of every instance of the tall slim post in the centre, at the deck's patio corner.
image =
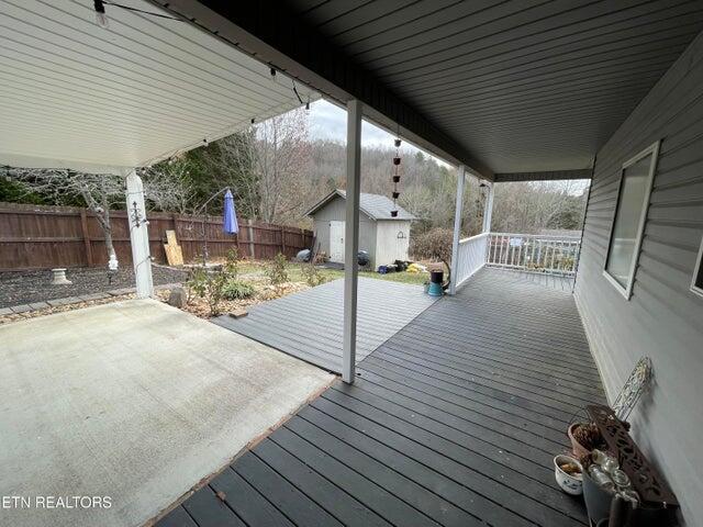
{"type": "Polygon", "coordinates": [[[344,232],[344,348],[342,380],[356,374],[356,306],[359,251],[359,188],[361,181],[361,102],[347,103],[347,199],[344,232]]]}

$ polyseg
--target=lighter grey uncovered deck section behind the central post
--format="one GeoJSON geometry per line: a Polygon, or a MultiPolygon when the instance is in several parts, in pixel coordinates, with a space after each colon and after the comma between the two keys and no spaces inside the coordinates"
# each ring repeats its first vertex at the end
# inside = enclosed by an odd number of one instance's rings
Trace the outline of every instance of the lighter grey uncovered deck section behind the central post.
{"type": "MultiPolygon", "coordinates": [[[[420,285],[359,278],[357,361],[436,302],[420,285]]],[[[344,280],[255,305],[243,318],[214,321],[288,355],[342,372],[344,280]]]]}

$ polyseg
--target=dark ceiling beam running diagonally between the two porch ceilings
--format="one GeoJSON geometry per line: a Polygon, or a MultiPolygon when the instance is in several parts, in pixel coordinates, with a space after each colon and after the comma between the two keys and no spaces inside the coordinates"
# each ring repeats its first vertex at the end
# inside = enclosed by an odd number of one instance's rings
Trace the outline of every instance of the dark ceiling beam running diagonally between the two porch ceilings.
{"type": "Polygon", "coordinates": [[[353,64],[317,30],[284,2],[150,0],[271,67],[346,104],[364,103],[365,117],[454,165],[465,165],[483,179],[492,170],[475,159],[422,112],[404,102],[369,71],[353,64]]]}

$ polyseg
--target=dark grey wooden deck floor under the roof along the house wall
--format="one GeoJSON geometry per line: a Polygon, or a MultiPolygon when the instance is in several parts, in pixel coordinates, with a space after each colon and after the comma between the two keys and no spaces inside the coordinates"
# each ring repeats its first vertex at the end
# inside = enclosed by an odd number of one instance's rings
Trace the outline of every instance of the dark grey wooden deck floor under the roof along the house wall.
{"type": "Polygon", "coordinates": [[[358,368],[159,527],[588,525],[551,464],[603,401],[571,294],[483,269],[358,368]]]}

